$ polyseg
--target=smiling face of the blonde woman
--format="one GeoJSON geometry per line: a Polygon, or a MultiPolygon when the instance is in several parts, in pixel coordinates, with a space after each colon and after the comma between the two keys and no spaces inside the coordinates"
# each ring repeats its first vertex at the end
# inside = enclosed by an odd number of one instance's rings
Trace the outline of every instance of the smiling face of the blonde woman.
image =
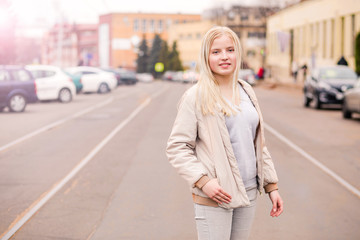
{"type": "Polygon", "coordinates": [[[227,35],[215,38],[210,48],[209,65],[217,79],[232,77],[236,68],[234,43],[227,35]]]}

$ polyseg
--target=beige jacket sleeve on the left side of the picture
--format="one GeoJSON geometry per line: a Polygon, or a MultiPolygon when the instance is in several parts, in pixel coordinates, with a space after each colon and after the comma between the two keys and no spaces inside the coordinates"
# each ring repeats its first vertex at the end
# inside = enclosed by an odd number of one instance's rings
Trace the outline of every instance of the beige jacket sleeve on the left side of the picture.
{"type": "Polygon", "coordinates": [[[205,167],[195,152],[198,131],[195,107],[195,97],[186,92],[180,101],[166,148],[170,164],[191,187],[196,187],[199,179],[206,175],[205,167]]]}

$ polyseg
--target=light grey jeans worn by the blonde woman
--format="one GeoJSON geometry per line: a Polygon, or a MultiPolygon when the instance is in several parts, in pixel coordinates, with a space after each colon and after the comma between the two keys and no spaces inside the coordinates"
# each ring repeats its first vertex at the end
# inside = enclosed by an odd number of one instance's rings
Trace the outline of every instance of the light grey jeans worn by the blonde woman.
{"type": "Polygon", "coordinates": [[[257,189],[246,191],[250,206],[235,209],[194,204],[198,240],[246,240],[255,216],[257,189]]]}

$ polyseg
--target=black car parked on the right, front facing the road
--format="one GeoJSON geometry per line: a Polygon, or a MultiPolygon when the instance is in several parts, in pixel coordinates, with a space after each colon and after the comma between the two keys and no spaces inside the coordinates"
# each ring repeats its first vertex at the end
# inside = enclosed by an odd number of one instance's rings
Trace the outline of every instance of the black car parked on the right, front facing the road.
{"type": "Polygon", "coordinates": [[[313,69],[304,83],[304,106],[314,102],[320,109],[324,104],[342,104],[345,91],[354,86],[356,79],[356,73],[347,66],[313,69]]]}

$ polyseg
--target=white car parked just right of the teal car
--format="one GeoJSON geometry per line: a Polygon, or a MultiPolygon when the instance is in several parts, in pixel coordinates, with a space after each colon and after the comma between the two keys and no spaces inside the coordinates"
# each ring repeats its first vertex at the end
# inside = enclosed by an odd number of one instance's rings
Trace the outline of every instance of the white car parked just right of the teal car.
{"type": "Polygon", "coordinates": [[[117,79],[115,74],[95,67],[79,66],[65,69],[70,74],[81,76],[83,92],[107,93],[115,89],[117,79]]]}

